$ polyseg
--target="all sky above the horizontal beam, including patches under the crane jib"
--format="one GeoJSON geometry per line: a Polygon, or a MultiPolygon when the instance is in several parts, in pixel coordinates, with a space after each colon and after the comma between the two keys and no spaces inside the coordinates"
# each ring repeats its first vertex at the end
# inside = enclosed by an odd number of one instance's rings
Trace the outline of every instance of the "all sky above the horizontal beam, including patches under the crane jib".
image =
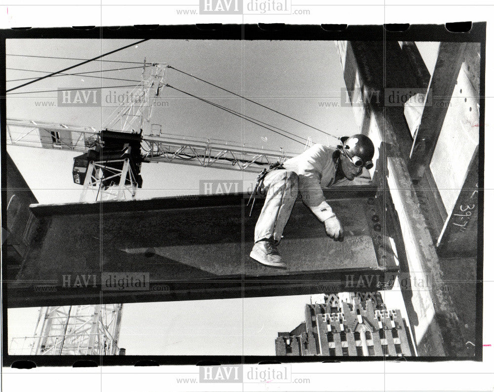
{"type": "MultiPolygon", "coordinates": [[[[8,40],[8,54],[35,56],[91,58],[128,44],[129,40],[8,40]]],[[[191,75],[206,79],[249,99],[265,104],[293,118],[342,136],[357,132],[351,108],[320,106],[320,102],[339,102],[343,75],[332,41],[233,41],[233,40],[151,40],[105,57],[108,60],[163,62],[191,75]],[[310,65],[310,66],[309,66],[310,65]]],[[[24,83],[20,78],[45,75],[32,71],[51,71],[66,68],[80,61],[7,56],[7,89],[24,83]],[[22,69],[23,71],[12,70],[22,69]]],[[[88,72],[100,69],[137,67],[135,64],[88,63],[68,73],[88,72]]],[[[142,69],[103,73],[105,77],[139,80],[142,69]]],[[[89,74],[89,75],[99,75],[89,74]]],[[[177,88],[248,116],[259,118],[304,139],[311,136],[313,142],[334,143],[334,139],[296,121],[267,109],[241,100],[222,90],[213,88],[195,78],[168,69],[166,82],[177,88]]],[[[45,91],[57,88],[83,88],[115,86],[131,82],[103,80],[80,76],[46,78],[12,91],[45,91]]],[[[105,89],[105,97],[124,89],[105,89]]],[[[255,148],[302,152],[303,145],[274,132],[254,125],[227,112],[174,90],[164,89],[163,101],[167,106],[155,108],[151,122],[160,124],[162,131],[182,137],[223,139],[245,143],[255,148]]],[[[41,107],[40,102],[56,105],[56,92],[13,94],[7,99],[7,117],[35,119],[56,123],[93,126],[100,128],[115,107],[73,108],[41,107]]],[[[55,152],[23,147],[8,147],[8,152],[26,177],[35,196],[41,203],[77,202],[79,185],[73,183],[73,157],[79,153],[55,152]],[[55,192],[56,190],[56,192],[55,192]]],[[[214,168],[181,167],[166,163],[144,164],[141,175],[143,189],[137,198],[194,194],[199,190],[199,180],[204,178],[229,179],[235,172],[214,168]],[[184,172],[187,173],[184,176],[184,172]]],[[[244,179],[252,180],[255,174],[246,173],[244,179]]],[[[237,178],[237,177],[235,177],[237,178]]]]}

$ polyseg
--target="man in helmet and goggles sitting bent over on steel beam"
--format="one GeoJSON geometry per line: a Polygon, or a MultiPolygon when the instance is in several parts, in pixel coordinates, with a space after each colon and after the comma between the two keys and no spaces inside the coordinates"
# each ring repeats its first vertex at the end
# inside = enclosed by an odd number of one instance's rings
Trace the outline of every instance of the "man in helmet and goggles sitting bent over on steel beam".
{"type": "Polygon", "coordinates": [[[343,241],[343,227],[326,202],[322,188],[343,178],[352,181],[362,174],[363,167],[370,169],[374,145],[362,134],[340,140],[342,145],[336,147],[315,144],[259,174],[254,192],[257,190],[266,199],[255,225],[252,259],[266,266],[286,268],[276,246],[299,193],[304,204],[324,223],[327,235],[343,241]]]}

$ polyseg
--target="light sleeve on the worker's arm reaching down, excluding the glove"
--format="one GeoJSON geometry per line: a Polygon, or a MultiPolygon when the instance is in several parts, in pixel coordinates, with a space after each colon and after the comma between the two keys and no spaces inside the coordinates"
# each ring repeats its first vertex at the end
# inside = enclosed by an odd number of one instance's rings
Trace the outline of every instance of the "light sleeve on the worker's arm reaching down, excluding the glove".
{"type": "Polygon", "coordinates": [[[326,202],[321,188],[323,169],[331,159],[321,144],[315,144],[304,153],[298,163],[298,184],[302,201],[324,222],[332,218],[334,212],[326,202]]]}

